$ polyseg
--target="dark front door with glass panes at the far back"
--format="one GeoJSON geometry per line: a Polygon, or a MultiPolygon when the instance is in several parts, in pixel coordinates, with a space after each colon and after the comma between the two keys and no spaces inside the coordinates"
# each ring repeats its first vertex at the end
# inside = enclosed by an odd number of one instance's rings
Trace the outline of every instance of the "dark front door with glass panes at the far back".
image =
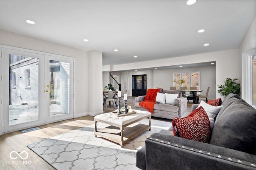
{"type": "Polygon", "coordinates": [[[143,96],[147,94],[147,75],[132,76],[132,96],[143,96]]]}

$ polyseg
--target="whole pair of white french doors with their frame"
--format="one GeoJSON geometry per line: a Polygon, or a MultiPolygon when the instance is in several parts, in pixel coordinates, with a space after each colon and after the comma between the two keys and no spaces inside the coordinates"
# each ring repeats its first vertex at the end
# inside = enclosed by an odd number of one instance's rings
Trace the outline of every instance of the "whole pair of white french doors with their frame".
{"type": "Polygon", "coordinates": [[[2,132],[74,117],[73,60],[2,48],[2,132]]]}

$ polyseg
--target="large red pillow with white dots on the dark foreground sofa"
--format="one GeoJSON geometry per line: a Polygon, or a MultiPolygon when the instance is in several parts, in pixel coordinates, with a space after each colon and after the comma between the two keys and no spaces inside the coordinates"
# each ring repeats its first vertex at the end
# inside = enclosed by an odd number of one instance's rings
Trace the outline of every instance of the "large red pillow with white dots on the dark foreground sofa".
{"type": "Polygon", "coordinates": [[[172,121],[174,136],[209,143],[211,127],[209,117],[202,106],[184,118],[175,117],[172,121]],[[178,135],[175,133],[175,127],[178,135]]]}

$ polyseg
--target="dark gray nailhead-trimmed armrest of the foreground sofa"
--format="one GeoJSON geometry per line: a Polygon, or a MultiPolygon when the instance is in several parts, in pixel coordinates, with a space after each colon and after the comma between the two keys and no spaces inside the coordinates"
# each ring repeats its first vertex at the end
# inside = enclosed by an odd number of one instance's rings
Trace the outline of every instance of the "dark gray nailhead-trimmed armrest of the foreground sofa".
{"type": "Polygon", "coordinates": [[[256,155],[181,137],[152,134],[146,143],[146,169],[255,170],[256,155]]]}

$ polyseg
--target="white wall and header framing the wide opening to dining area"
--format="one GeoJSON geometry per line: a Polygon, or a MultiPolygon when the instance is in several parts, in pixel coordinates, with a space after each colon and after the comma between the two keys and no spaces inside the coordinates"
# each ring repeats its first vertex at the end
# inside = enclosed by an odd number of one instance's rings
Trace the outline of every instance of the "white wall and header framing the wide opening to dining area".
{"type": "MultiPolygon", "coordinates": [[[[162,60],[146,61],[139,63],[119,64],[110,66],[110,71],[122,71],[140,68],[153,68],[160,66],[180,65],[180,64],[192,64],[192,63],[204,63],[216,61],[216,98],[220,98],[218,94],[217,85],[223,84],[226,78],[238,78],[241,80],[241,57],[240,49],[232,49],[226,51],[218,51],[213,53],[204,53],[198,55],[190,55],[183,57],[175,57],[162,60]]],[[[138,73],[132,73],[138,74],[138,73]]],[[[154,81],[154,80],[151,80],[154,81]]],[[[155,88],[151,82],[148,88],[155,88]]]]}

